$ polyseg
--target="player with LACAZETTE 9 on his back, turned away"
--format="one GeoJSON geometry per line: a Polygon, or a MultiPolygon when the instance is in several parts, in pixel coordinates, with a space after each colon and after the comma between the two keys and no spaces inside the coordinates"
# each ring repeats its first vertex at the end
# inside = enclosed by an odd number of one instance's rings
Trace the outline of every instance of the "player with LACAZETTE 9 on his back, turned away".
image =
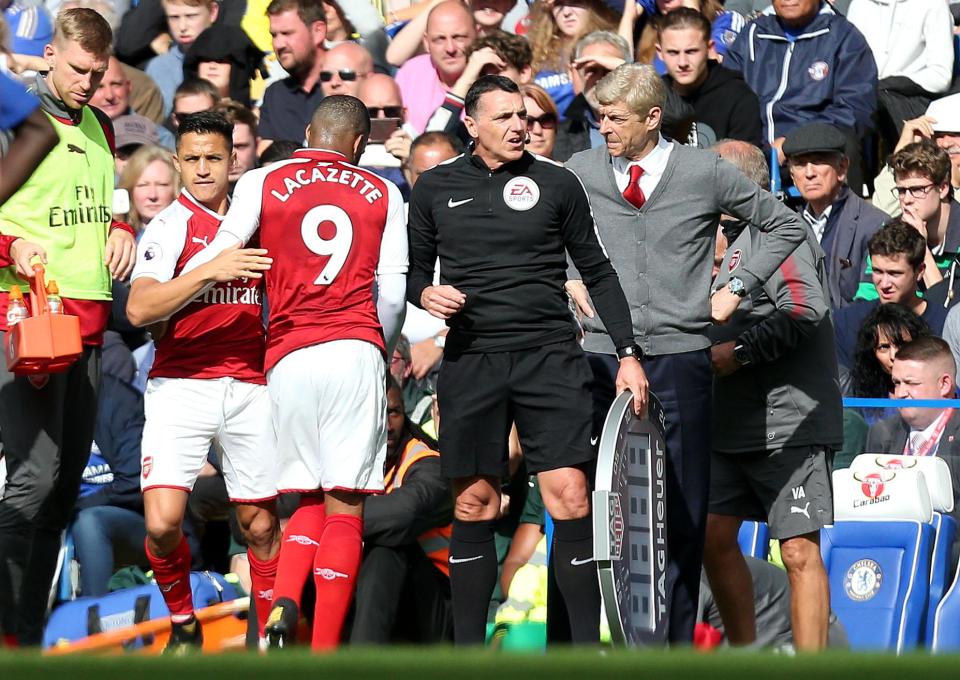
{"type": "Polygon", "coordinates": [[[313,648],[336,647],[360,565],[363,499],[383,490],[386,357],[403,323],[407,234],[400,190],[354,165],[369,133],[359,99],[326,97],[307,128],[311,148],[241,177],[210,248],[188,263],[258,230],[273,260],[265,369],[278,488],[305,499],[284,532],[273,646],[293,641],[312,568],[313,648]]]}

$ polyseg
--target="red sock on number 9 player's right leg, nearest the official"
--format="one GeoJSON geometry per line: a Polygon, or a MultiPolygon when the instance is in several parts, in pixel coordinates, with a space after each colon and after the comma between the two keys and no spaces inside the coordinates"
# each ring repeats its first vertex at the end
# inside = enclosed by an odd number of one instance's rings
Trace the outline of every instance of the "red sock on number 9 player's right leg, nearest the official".
{"type": "Polygon", "coordinates": [[[317,606],[313,617],[314,650],[336,649],[363,551],[363,520],[352,515],[330,515],[313,563],[317,606]]]}

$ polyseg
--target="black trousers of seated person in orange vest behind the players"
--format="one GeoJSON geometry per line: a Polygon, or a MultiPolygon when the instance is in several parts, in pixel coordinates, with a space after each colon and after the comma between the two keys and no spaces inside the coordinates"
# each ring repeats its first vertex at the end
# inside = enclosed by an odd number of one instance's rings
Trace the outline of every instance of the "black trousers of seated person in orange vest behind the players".
{"type": "Polygon", "coordinates": [[[360,564],[350,644],[453,641],[450,579],[418,544],[369,546],[360,564]]]}

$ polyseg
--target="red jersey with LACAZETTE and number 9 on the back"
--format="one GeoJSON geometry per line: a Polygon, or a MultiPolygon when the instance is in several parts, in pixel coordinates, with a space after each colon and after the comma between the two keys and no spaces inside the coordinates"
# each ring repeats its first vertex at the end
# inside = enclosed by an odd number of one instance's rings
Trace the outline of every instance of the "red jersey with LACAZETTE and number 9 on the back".
{"type": "Polygon", "coordinates": [[[373,289],[398,197],[389,182],[317,149],[241,178],[224,230],[235,214],[249,220],[240,235],[245,241],[258,224],[260,246],[273,258],[265,276],[267,370],[294,350],[332,340],[364,340],[384,350],[373,289]]]}

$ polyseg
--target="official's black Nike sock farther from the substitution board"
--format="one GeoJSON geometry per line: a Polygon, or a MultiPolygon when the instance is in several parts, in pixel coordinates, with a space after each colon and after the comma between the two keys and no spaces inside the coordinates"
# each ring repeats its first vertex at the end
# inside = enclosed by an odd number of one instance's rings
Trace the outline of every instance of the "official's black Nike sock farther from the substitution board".
{"type": "Polygon", "coordinates": [[[482,645],[487,612],[497,584],[497,547],[493,520],[453,520],[450,535],[450,594],[453,598],[453,640],[458,645],[482,645]]]}

